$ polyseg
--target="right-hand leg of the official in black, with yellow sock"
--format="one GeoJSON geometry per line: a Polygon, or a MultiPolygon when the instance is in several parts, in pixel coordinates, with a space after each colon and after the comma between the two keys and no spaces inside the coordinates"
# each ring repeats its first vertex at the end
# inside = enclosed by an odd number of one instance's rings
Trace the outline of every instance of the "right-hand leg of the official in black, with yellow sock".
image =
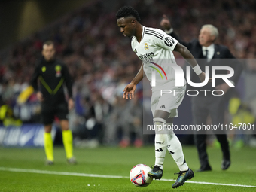
{"type": "Polygon", "coordinates": [[[73,136],[72,131],[69,130],[68,120],[68,106],[66,103],[58,105],[56,116],[59,118],[59,123],[62,129],[62,141],[66,151],[66,158],[69,164],[76,164],[76,160],[73,157],[73,136]]]}

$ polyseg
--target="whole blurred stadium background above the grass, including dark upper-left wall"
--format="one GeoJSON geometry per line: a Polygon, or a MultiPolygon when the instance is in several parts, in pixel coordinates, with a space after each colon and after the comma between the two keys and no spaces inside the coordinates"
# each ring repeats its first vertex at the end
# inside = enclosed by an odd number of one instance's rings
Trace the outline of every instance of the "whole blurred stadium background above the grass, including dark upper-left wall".
{"type": "MultiPolygon", "coordinates": [[[[75,110],[70,113],[70,126],[75,146],[126,147],[130,140],[131,145],[135,142],[139,147],[142,138],[145,145],[153,144],[154,138],[142,136],[142,130],[139,130],[142,126],[142,112],[139,112],[142,111],[142,84],[138,86],[137,99],[121,99],[123,87],[140,67],[139,59],[130,49],[130,39],[123,38],[115,19],[116,11],[127,5],[127,1],[24,0],[2,1],[0,4],[0,105],[8,108],[5,115],[1,115],[1,123],[7,122],[9,130],[13,130],[15,124],[23,124],[23,127],[30,127],[28,129],[37,128],[40,105],[35,94],[22,104],[17,102],[17,97],[29,85],[36,59],[41,56],[42,43],[51,39],[56,44],[56,56],[66,62],[74,79],[75,110]],[[112,134],[113,130],[116,136],[112,134]]],[[[203,24],[215,25],[220,32],[218,42],[229,47],[236,58],[243,59],[245,69],[234,93],[241,99],[241,105],[235,112],[228,111],[227,102],[226,122],[233,122],[236,117],[239,123],[254,123],[254,1],[148,0],[129,1],[129,5],[139,11],[145,26],[160,28],[160,19],[167,14],[175,31],[186,41],[197,38],[203,24]]],[[[181,58],[178,54],[175,56],[181,58]]],[[[184,64],[181,66],[184,67],[184,64]]],[[[191,123],[189,97],[184,99],[179,114],[176,123],[191,123]]],[[[14,134],[17,141],[10,142],[9,138],[14,139],[13,134],[7,131],[6,126],[1,126],[0,145],[25,145],[19,142],[20,132],[14,134]]],[[[56,130],[56,144],[61,142],[59,138],[59,131],[56,130]]],[[[180,136],[180,139],[183,143],[193,143],[191,136],[180,136]]],[[[209,137],[209,142],[214,144],[212,141],[214,139],[209,137]]],[[[244,136],[232,132],[230,141],[236,148],[243,145],[255,147],[253,134],[244,136]]]]}

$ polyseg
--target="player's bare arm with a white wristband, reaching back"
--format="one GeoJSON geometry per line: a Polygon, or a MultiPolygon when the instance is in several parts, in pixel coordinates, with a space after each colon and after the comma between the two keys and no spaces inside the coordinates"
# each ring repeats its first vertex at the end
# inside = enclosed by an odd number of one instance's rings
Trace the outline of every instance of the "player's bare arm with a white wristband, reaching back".
{"type": "MultiPolygon", "coordinates": [[[[187,49],[187,47],[183,46],[182,44],[178,43],[175,48],[174,51],[177,51],[178,53],[181,54],[181,56],[183,56],[184,59],[186,59],[186,61],[190,64],[190,66],[195,70],[195,68],[199,67],[197,64],[196,59],[194,58],[194,56],[190,53],[190,51],[187,49]]],[[[196,72],[197,73],[197,72],[196,72]]],[[[197,73],[198,77],[200,78],[200,81],[203,82],[206,78],[206,74],[205,72],[200,71],[199,73],[197,73]]],[[[210,81],[210,78],[209,78],[210,81]]]]}

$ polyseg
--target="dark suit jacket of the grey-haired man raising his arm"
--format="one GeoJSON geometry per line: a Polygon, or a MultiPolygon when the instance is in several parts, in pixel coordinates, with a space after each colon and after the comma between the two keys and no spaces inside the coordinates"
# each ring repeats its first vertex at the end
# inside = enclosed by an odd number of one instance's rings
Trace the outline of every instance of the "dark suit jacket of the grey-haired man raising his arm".
{"type": "MultiPolygon", "coordinates": [[[[215,44],[215,53],[212,56],[212,59],[210,62],[207,62],[206,59],[203,59],[203,51],[202,46],[200,45],[199,41],[197,39],[194,39],[190,42],[182,41],[181,38],[178,37],[178,35],[175,34],[175,32],[172,32],[169,34],[173,38],[177,39],[180,44],[183,44],[185,47],[187,47],[188,50],[192,53],[195,59],[197,59],[197,63],[202,69],[203,72],[206,72],[205,66],[209,66],[209,77],[212,78],[212,67],[211,66],[230,66],[234,70],[234,75],[229,78],[231,81],[233,81],[235,84],[239,80],[239,77],[242,73],[242,63],[239,62],[238,59],[236,59],[232,53],[230,53],[230,50],[224,45],[221,44],[215,44]]],[[[197,77],[196,73],[193,70],[190,70],[190,78],[191,81],[194,83],[200,83],[200,79],[197,77]]],[[[219,74],[227,74],[227,70],[218,70],[216,72],[219,74]]],[[[223,84],[224,81],[220,78],[216,79],[216,86],[218,84],[223,84]]],[[[207,84],[204,87],[191,87],[188,86],[189,89],[193,90],[215,90],[215,87],[212,87],[212,84],[207,84]]],[[[203,93],[204,94],[204,93],[203,93]]]]}

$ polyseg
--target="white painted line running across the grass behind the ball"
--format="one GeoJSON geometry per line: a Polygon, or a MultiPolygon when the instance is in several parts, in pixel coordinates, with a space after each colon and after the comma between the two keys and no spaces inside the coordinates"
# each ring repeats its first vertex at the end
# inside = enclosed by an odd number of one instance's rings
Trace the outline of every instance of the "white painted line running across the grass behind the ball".
{"type": "MultiPolygon", "coordinates": [[[[37,170],[37,169],[19,169],[19,168],[8,168],[8,167],[0,167],[0,171],[26,172],[26,173],[30,172],[30,173],[47,174],[47,175],[69,175],[69,176],[91,177],[91,178],[129,178],[126,176],[117,176],[117,175],[97,175],[97,174],[87,174],[87,173],[80,173],[80,172],[54,172],[54,171],[45,171],[45,170],[37,170]]],[[[175,180],[162,178],[160,181],[175,181],[175,180]]],[[[253,186],[253,185],[222,184],[222,183],[210,183],[210,182],[203,182],[203,181],[202,182],[201,181],[186,181],[186,183],[256,188],[256,186],[253,186]]]]}

